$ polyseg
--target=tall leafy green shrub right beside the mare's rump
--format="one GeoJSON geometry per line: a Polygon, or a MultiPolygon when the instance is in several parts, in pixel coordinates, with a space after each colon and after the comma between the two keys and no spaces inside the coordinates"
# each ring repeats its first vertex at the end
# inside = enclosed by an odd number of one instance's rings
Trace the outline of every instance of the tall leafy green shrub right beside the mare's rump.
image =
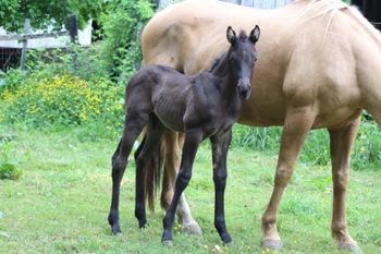
{"type": "Polygon", "coordinates": [[[102,57],[114,81],[124,83],[142,62],[139,35],[153,15],[148,0],[115,0],[108,3],[101,19],[105,33],[102,57]]]}

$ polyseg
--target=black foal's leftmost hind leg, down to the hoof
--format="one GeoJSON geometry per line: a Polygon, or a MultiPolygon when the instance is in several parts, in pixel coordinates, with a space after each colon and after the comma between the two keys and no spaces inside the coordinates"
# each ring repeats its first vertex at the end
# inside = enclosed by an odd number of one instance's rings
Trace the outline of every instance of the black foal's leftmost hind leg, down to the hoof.
{"type": "Polygon", "coordinates": [[[134,142],[147,121],[148,113],[128,113],[128,117],[125,119],[122,140],[112,156],[112,198],[108,220],[114,234],[122,232],[119,222],[119,194],[122,177],[134,142]]]}

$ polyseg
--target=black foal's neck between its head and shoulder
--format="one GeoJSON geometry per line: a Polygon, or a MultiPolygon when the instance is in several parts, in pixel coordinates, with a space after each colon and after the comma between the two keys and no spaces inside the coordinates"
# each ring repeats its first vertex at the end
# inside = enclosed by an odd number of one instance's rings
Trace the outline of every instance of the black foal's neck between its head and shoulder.
{"type": "Polygon", "coordinates": [[[219,59],[216,60],[210,73],[219,80],[218,86],[225,98],[236,99],[238,98],[237,93],[237,81],[229,65],[228,53],[224,52],[219,59]]]}

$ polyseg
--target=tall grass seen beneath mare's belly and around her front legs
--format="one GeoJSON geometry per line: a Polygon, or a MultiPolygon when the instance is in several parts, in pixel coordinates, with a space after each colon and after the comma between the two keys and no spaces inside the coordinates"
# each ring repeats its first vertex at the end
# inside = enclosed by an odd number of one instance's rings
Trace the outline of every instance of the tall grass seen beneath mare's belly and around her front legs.
{"type": "MultiPolygon", "coordinates": [[[[234,147],[278,154],[282,128],[250,128],[236,124],[233,129],[234,147]]],[[[303,162],[327,166],[331,162],[330,138],[327,130],[311,131],[299,155],[303,162]]],[[[372,120],[362,119],[352,152],[354,170],[381,170],[381,132],[372,120]]]]}

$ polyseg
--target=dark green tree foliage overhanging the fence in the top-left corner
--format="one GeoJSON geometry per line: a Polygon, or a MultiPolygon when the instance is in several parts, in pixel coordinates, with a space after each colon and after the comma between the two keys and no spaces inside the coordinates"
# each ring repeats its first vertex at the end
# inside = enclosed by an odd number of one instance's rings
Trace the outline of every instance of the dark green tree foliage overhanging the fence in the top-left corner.
{"type": "Polygon", "coordinates": [[[103,5],[103,0],[1,0],[0,25],[9,32],[19,32],[25,19],[30,19],[34,28],[49,25],[61,28],[69,15],[76,14],[79,27],[84,27],[89,19],[100,15],[103,5]]]}

